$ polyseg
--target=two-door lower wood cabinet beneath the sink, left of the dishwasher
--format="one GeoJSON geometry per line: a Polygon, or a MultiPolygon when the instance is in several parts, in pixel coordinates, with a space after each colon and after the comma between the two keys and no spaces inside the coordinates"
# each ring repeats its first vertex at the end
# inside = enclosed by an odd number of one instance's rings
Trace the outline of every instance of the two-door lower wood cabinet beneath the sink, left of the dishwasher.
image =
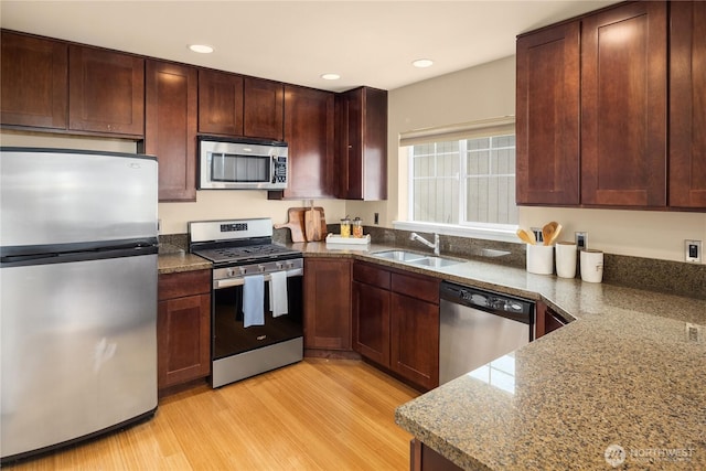
{"type": "Polygon", "coordinates": [[[439,280],[353,265],[353,350],[403,378],[439,385],[439,280]]]}

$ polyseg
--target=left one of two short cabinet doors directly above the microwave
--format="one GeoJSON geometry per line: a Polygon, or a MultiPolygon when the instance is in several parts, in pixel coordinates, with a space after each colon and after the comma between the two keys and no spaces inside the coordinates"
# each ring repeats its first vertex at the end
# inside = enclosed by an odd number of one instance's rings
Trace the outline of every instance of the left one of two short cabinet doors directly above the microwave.
{"type": "Polygon", "coordinates": [[[199,71],[199,132],[243,136],[243,77],[199,71]]]}

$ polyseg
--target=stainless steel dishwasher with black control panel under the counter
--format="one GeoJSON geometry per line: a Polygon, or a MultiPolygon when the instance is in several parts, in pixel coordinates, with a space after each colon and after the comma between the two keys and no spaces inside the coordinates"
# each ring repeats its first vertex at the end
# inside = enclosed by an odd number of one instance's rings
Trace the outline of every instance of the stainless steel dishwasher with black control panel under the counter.
{"type": "Polygon", "coordinates": [[[449,281],[440,298],[440,385],[534,339],[534,301],[449,281]]]}

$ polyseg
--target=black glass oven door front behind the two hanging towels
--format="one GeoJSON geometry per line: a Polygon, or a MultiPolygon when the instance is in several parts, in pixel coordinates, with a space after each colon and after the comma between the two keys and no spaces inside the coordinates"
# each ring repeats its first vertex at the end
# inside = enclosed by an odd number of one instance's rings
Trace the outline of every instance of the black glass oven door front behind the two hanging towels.
{"type": "Polygon", "coordinates": [[[265,325],[243,325],[243,286],[213,291],[213,360],[303,335],[302,277],[287,278],[288,313],[272,318],[269,281],[265,283],[265,325]]]}

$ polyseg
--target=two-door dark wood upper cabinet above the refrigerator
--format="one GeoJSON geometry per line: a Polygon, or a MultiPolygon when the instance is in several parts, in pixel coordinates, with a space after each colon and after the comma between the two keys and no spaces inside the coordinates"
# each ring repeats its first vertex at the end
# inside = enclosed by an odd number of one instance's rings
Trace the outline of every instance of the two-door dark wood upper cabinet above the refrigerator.
{"type": "Polygon", "coordinates": [[[2,125],[145,135],[145,60],[2,31],[2,125]]]}

